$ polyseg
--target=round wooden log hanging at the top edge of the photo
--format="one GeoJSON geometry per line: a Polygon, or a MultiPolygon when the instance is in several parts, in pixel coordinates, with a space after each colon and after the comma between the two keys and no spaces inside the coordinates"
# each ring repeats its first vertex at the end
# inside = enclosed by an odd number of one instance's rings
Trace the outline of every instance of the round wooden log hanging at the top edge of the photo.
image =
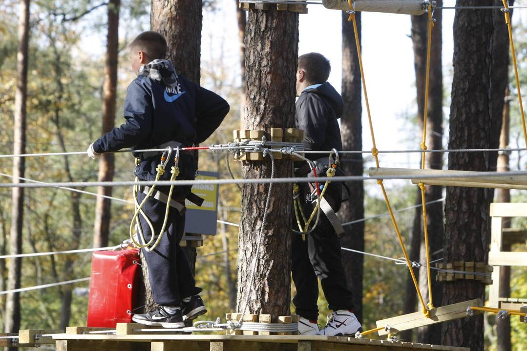
{"type": "MultiPolygon", "coordinates": [[[[324,7],[348,11],[348,0],[324,0],[324,7]]],[[[425,13],[423,0],[355,0],[355,11],[385,12],[405,15],[422,15],[425,13]]]]}

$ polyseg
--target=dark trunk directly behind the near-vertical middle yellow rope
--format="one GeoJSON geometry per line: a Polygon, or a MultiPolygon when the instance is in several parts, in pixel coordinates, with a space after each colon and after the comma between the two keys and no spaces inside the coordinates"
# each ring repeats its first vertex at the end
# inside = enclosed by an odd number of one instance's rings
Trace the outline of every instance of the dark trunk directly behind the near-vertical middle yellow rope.
{"type": "MultiPolygon", "coordinates": [[[[437,1],[437,6],[442,6],[442,1],[437,1]]],[[[442,11],[434,13],[436,19],[432,30],[432,48],[430,55],[430,88],[428,94],[428,117],[426,124],[426,144],[428,149],[443,148],[443,69],[442,69],[442,11]]],[[[424,112],[425,112],[425,84],[426,84],[426,59],[427,59],[427,41],[428,41],[428,18],[427,15],[412,16],[412,42],[414,45],[414,69],[417,91],[417,111],[419,125],[423,129],[424,112]]],[[[426,169],[441,169],[443,167],[443,154],[431,153],[426,154],[426,169]]],[[[442,197],[443,188],[441,186],[427,186],[425,190],[426,201],[433,201],[442,197]]],[[[417,188],[416,204],[422,204],[421,190],[417,188]]],[[[428,227],[428,246],[430,253],[436,252],[443,247],[443,205],[434,203],[426,206],[426,221],[428,227]]],[[[419,228],[414,228],[414,235],[419,235],[419,240],[415,240],[416,246],[412,247],[411,252],[415,249],[420,254],[415,255],[419,262],[426,262],[425,240],[421,239],[424,234],[422,227],[422,208],[416,209],[414,224],[419,228]]],[[[436,283],[434,271],[431,272],[432,297],[435,305],[439,306],[443,299],[443,289],[436,283]]],[[[425,302],[430,300],[428,294],[428,276],[426,267],[419,269],[419,289],[425,302]]],[[[413,283],[410,280],[410,284],[413,283]]],[[[414,306],[415,306],[415,292],[414,306]]],[[[417,330],[418,343],[439,344],[441,342],[441,326],[436,324],[425,326],[417,330]]]]}

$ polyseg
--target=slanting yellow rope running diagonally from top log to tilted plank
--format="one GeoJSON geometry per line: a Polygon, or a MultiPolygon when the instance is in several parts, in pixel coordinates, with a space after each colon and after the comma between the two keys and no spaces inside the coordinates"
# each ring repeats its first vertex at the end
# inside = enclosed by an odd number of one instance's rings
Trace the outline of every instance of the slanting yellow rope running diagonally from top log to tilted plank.
{"type": "MultiPolygon", "coordinates": [[[[353,30],[354,30],[354,34],[355,34],[355,44],[357,46],[357,58],[358,58],[358,61],[359,61],[359,68],[360,68],[360,78],[362,79],[364,98],[365,98],[365,101],[366,101],[366,110],[368,112],[369,131],[370,131],[370,134],[372,135],[372,144],[373,144],[372,155],[373,155],[373,157],[375,157],[375,164],[377,165],[377,168],[379,168],[380,167],[379,166],[379,158],[378,158],[379,151],[378,151],[377,146],[375,144],[375,135],[374,135],[374,130],[373,130],[372,115],[371,115],[370,108],[369,108],[368,93],[366,91],[366,79],[364,77],[364,67],[363,67],[363,62],[362,62],[362,54],[360,53],[360,41],[359,41],[359,37],[358,37],[357,23],[356,23],[356,18],[355,18],[355,1],[348,0],[348,5],[349,5],[349,8],[350,8],[348,21],[353,23],[353,30]]],[[[412,269],[412,263],[410,262],[410,258],[408,257],[408,253],[406,252],[406,247],[405,247],[404,242],[403,242],[403,237],[401,236],[401,232],[400,232],[399,227],[397,225],[397,220],[395,219],[395,216],[394,216],[394,213],[393,213],[393,210],[392,210],[392,205],[389,202],[388,194],[386,193],[386,189],[384,187],[383,180],[382,179],[378,179],[377,180],[377,184],[379,184],[380,188],[382,189],[382,192],[383,192],[383,195],[384,195],[384,200],[386,202],[386,206],[388,207],[388,212],[390,213],[390,217],[392,218],[392,224],[394,226],[395,233],[397,234],[397,238],[399,239],[399,244],[401,244],[401,248],[403,249],[404,258],[406,259],[406,263],[408,265],[408,270],[410,272],[410,275],[412,276],[412,280],[414,282],[414,286],[415,286],[415,290],[417,292],[417,296],[419,297],[419,302],[421,302],[421,305],[423,306],[423,314],[425,315],[425,317],[430,317],[430,311],[426,307],[426,304],[425,304],[425,302],[423,300],[423,295],[421,294],[421,291],[419,290],[419,284],[417,283],[417,279],[415,277],[414,270],[412,269]]]]}

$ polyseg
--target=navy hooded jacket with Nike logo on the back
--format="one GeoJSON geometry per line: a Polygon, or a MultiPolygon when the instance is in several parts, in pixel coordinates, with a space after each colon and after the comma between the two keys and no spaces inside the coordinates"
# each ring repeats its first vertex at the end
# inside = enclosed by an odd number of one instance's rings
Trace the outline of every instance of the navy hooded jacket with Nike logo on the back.
{"type": "MultiPolygon", "coordinates": [[[[154,60],[141,66],[139,76],[128,86],[124,101],[125,124],[113,128],[93,143],[96,153],[122,148],[148,149],[169,141],[183,145],[204,142],[229,112],[229,104],[219,95],[178,76],[172,62],[154,60]]],[[[161,154],[143,158],[135,168],[139,179],[154,180],[161,154]]],[[[173,165],[175,152],[167,169],[173,165]]],[[[182,152],[178,179],[194,179],[196,165],[190,152],[182,152]]],[[[165,172],[162,180],[170,178],[165,172]]]]}

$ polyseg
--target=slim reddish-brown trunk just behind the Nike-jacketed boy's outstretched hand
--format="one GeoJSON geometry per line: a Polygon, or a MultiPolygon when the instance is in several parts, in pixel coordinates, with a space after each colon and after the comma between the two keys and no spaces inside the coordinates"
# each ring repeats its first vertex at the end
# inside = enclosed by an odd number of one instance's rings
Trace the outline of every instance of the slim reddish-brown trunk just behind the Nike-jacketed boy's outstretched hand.
{"type": "MultiPolygon", "coordinates": [[[[108,34],[106,35],[106,64],[104,66],[104,101],[102,105],[102,134],[115,126],[115,100],[117,91],[117,65],[119,56],[119,7],[120,0],[108,5],[108,34]]],[[[114,174],[114,154],[104,153],[99,158],[99,182],[111,182],[114,174]]],[[[111,186],[100,186],[98,195],[112,196],[111,186]]],[[[110,237],[111,200],[97,197],[93,247],[108,246],[110,237]]]]}

